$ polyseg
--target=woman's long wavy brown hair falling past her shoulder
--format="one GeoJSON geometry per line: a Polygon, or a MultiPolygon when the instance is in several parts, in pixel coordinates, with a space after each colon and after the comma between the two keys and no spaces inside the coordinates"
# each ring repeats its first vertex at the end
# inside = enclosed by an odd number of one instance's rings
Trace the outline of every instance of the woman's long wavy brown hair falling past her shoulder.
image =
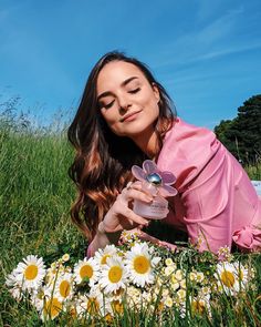
{"type": "Polygon", "coordinates": [[[74,162],[69,170],[70,177],[77,186],[77,197],[72,205],[71,216],[88,239],[95,235],[97,224],[116,200],[118,192],[132,180],[130,167],[134,164],[142,165],[147,159],[130,139],[114,134],[98,110],[97,76],[101,70],[112,61],[135,64],[150,85],[156,85],[159,90],[159,116],[155,122],[158,139],[157,154],[176,116],[173,102],[165,89],[154,79],[148,68],[137,59],[114,51],[103,55],[95,64],[67,131],[69,141],[76,150],[74,162]]]}

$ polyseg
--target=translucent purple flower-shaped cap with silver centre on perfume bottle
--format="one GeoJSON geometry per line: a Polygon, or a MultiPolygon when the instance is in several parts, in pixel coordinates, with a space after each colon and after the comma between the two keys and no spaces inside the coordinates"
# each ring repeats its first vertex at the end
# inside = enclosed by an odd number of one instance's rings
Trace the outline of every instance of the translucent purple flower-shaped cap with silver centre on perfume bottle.
{"type": "Polygon", "coordinates": [[[134,165],[132,173],[138,181],[143,182],[146,191],[153,195],[159,193],[161,196],[174,196],[178,193],[176,188],[170,186],[176,182],[174,174],[170,172],[160,172],[152,160],[145,160],[143,170],[134,165]]]}

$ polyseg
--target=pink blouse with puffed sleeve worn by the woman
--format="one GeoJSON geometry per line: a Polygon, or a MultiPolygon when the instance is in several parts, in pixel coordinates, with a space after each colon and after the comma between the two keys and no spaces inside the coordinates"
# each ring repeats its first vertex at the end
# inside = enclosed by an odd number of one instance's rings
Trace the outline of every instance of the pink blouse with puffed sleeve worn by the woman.
{"type": "Polygon", "coordinates": [[[188,232],[199,249],[261,249],[261,198],[216,135],[179,117],[165,136],[157,165],[177,177],[166,223],[188,232]],[[201,239],[201,241],[200,241],[201,239]]]}

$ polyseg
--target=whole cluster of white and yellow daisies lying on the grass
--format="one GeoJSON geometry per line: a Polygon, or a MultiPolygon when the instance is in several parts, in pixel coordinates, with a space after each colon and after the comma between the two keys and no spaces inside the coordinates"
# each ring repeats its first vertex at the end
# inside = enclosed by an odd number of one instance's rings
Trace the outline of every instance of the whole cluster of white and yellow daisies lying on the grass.
{"type": "Polygon", "coordinates": [[[191,315],[211,318],[211,303],[218,295],[237,298],[253,284],[253,269],[232,256],[199,269],[185,264],[191,249],[171,253],[135,234],[123,234],[122,239],[121,246],[107,245],[73,266],[69,254],[50,267],[29,255],[7,276],[6,284],[18,302],[30,300],[43,321],[69,315],[108,323],[125,308],[160,317],[175,311],[185,317],[189,306],[191,315]]]}

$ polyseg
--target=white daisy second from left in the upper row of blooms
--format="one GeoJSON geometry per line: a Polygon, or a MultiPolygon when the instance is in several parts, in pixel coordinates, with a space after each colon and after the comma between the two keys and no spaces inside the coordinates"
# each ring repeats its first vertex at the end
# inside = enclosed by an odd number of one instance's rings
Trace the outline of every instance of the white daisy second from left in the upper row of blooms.
{"type": "Polygon", "coordinates": [[[100,276],[100,266],[97,262],[91,258],[84,258],[83,260],[79,260],[74,266],[74,278],[76,284],[81,284],[83,278],[90,279],[90,285],[93,285],[97,282],[100,276]]]}

